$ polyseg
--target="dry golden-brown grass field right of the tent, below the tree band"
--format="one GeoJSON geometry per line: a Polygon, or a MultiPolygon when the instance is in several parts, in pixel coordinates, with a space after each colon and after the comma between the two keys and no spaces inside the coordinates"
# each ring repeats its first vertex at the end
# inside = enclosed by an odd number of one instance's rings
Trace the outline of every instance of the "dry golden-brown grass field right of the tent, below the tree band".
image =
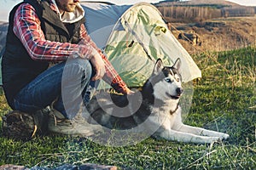
{"type": "Polygon", "coordinates": [[[256,16],[206,20],[198,23],[172,23],[172,33],[195,32],[201,46],[179,39],[190,54],[201,51],[224,51],[256,45],[256,16]]]}

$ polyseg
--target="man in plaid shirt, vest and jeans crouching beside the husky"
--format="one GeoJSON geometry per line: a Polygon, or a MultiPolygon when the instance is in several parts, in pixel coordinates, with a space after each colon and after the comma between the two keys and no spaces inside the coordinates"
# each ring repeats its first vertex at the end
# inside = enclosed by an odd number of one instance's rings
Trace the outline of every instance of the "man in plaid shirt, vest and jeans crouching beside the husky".
{"type": "Polygon", "coordinates": [[[55,133],[87,135],[93,130],[78,113],[95,81],[133,94],[90,39],[84,21],[79,0],[25,0],[9,14],[4,94],[13,110],[33,113],[53,104],[60,113],[49,127],[55,133]]]}

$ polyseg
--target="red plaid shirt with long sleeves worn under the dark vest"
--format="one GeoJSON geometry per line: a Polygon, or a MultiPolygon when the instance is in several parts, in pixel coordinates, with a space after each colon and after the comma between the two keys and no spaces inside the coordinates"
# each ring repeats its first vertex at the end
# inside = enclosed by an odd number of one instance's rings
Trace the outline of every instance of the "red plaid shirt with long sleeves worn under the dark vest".
{"type": "MultiPolygon", "coordinates": [[[[50,4],[50,8],[56,12],[55,5],[50,4]]],[[[108,82],[113,88],[122,93],[127,93],[127,86],[125,82],[119,77],[119,74],[114,70],[113,65],[101,50],[96,47],[84,25],[81,25],[81,38],[83,44],[73,44],[69,42],[50,42],[45,39],[44,32],[40,26],[40,20],[32,5],[22,3],[16,10],[14,20],[15,35],[23,43],[24,47],[31,58],[34,60],[46,60],[49,62],[59,62],[68,58],[73,58],[74,54],[84,55],[91,54],[93,49],[96,49],[101,54],[105,63],[106,74],[103,77],[105,82],[108,82]]]]}

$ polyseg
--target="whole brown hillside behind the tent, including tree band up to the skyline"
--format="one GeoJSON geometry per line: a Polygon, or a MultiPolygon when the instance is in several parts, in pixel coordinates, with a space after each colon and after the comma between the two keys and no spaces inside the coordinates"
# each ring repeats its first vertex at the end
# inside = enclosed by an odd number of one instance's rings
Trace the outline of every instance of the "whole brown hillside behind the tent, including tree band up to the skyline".
{"type": "Polygon", "coordinates": [[[191,0],[154,4],[172,26],[172,33],[198,37],[201,46],[193,46],[186,38],[179,41],[189,53],[223,51],[256,45],[255,8],[224,0],[191,0]]]}

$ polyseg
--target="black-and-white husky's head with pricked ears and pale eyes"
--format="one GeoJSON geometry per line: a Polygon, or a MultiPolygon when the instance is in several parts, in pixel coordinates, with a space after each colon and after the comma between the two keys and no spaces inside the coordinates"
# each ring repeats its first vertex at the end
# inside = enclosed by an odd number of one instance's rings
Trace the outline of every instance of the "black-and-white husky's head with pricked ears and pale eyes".
{"type": "Polygon", "coordinates": [[[155,99],[178,101],[183,94],[182,77],[179,74],[180,65],[180,59],[177,59],[172,66],[164,66],[161,59],[156,61],[150,77],[155,99]]]}

